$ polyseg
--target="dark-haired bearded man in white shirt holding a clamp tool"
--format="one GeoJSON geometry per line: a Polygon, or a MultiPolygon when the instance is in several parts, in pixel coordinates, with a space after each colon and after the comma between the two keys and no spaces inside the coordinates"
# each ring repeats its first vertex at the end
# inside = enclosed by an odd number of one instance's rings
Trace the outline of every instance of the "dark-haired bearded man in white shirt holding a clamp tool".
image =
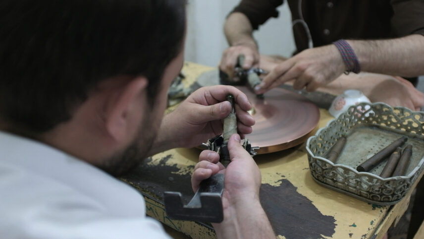
{"type": "MultiPolygon", "coordinates": [[[[183,63],[185,4],[0,2],[2,238],[165,238],[146,218],[142,196],[110,175],[221,133],[229,93],[239,133],[252,131],[247,97],[228,86],[202,88],[163,117],[183,63]]],[[[226,170],[204,151],[192,178],[196,189],[218,171],[226,175],[217,235],[274,237],[259,202],[257,165],[238,134],[228,148],[226,170]]]]}

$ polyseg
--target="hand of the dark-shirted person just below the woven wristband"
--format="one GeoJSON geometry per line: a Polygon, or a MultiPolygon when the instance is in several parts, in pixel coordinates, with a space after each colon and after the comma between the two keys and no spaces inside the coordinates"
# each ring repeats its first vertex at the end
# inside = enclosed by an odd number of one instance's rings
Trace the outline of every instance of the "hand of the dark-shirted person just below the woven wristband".
{"type": "Polygon", "coordinates": [[[346,67],[336,46],[307,49],[278,64],[255,89],[257,94],[287,81],[294,80],[293,88],[314,91],[340,76],[346,67]]]}

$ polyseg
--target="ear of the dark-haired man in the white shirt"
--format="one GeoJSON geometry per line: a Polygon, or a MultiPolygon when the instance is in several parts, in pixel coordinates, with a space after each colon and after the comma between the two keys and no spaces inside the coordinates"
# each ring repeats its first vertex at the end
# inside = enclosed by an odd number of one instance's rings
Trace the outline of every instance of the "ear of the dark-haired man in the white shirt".
{"type": "Polygon", "coordinates": [[[147,86],[147,78],[138,76],[112,90],[113,96],[107,100],[105,124],[107,133],[115,141],[125,140],[127,134],[133,131],[134,114],[145,112],[147,86]]]}

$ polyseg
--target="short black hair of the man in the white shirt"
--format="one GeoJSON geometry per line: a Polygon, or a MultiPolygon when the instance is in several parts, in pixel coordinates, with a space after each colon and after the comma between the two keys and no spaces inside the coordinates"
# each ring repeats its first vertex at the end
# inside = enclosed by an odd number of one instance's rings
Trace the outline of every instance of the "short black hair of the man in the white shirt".
{"type": "Polygon", "coordinates": [[[45,132],[116,75],[146,76],[153,99],[184,32],[185,0],[2,0],[0,121],[45,132]]]}

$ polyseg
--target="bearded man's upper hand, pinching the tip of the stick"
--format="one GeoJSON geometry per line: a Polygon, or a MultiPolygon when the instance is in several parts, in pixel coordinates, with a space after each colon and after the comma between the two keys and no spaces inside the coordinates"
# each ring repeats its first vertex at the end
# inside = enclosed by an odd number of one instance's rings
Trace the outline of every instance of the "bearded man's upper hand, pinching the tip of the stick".
{"type": "Polygon", "coordinates": [[[231,112],[228,94],[235,99],[237,129],[244,134],[252,132],[255,119],[247,112],[252,108],[247,96],[233,86],[216,85],[193,92],[160,125],[158,137],[150,155],[176,147],[195,147],[219,135],[222,119],[231,112]]]}

